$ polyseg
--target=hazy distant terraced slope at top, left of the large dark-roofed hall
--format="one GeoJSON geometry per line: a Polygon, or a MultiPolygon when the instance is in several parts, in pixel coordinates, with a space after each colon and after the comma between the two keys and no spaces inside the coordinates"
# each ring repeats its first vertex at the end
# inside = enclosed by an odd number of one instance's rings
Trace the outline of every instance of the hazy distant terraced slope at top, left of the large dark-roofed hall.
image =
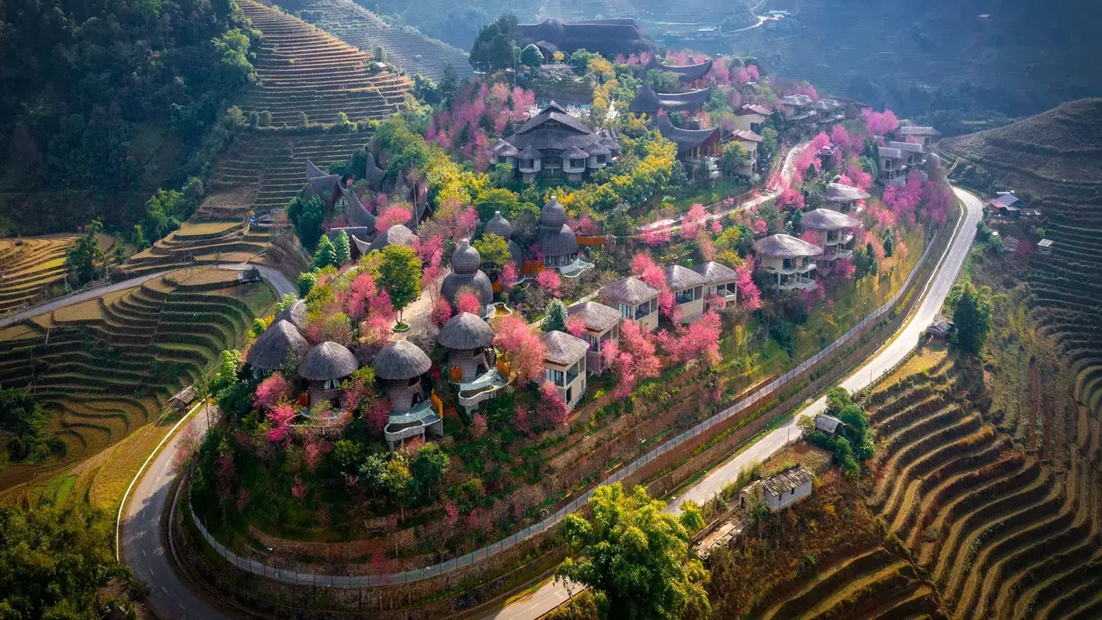
{"type": "MultiPolygon", "coordinates": [[[[418,10],[432,10],[431,4],[420,4],[418,10]]],[[[382,45],[387,62],[406,70],[409,75],[421,74],[439,82],[447,65],[455,68],[460,79],[474,75],[463,50],[417,32],[392,28],[352,0],[312,0],[293,6],[302,19],[354,47],[374,54],[375,49],[382,45]]],[[[454,10],[454,6],[449,4],[447,9],[454,10]]]]}

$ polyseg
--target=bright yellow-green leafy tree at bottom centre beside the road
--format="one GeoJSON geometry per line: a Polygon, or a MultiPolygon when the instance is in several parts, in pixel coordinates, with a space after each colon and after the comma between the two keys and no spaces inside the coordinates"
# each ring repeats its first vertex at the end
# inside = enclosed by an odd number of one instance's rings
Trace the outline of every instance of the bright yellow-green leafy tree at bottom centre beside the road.
{"type": "Polygon", "coordinates": [[[680,620],[711,612],[700,580],[704,568],[690,559],[689,532],[636,487],[599,487],[590,499],[593,516],[566,516],[570,553],[555,570],[593,588],[603,616],[627,620],[680,620]]]}

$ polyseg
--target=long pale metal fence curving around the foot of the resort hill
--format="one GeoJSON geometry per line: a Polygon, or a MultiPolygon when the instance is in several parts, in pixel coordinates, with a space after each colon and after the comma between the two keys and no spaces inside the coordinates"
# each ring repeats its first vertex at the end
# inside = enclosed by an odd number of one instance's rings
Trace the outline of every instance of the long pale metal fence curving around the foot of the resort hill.
{"type": "MultiPolygon", "coordinates": [[[[669,441],[650,450],[642,457],[639,457],[628,466],[615,471],[612,475],[602,481],[602,483],[598,484],[598,487],[603,484],[613,484],[615,482],[623,481],[625,478],[639,471],[640,468],[647,466],[647,463],[653,461],[655,459],[661,457],[662,455],[669,452],[670,450],[673,450],[674,448],[681,446],[685,441],[689,441],[695,438],[696,436],[712,429],[716,425],[730,420],[732,417],[745,411],[747,408],[756,405],[758,402],[773,395],[775,392],[777,392],[786,384],[788,384],[789,382],[791,382],[792,380],[795,380],[796,377],[798,377],[799,375],[801,375],[802,373],[804,373],[806,371],[818,364],[820,361],[829,356],[831,353],[850,344],[850,341],[855,339],[857,334],[862,332],[862,330],[864,330],[868,324],[880,320],[885,314],[890,312],[892,309],[899,302],[899,300],[909,292],[911,284],[914,284],[915,278],[918,277],[919,270],[921,270],[922,266],[926,264],[927,258],[929,257],[930,249],[933,247],[934,242],[938,238],[938,234],[939,233],[936,233],[930,238],[930,243],[926,244],[926,250],[922,252],[922,256],[918,259],[918,263],[915,264],[915,268],[910,270],[910,274],[904,281],[904,286],[901,286],[899,290],[892,296],[892,299],[889,299],[883,306],[874,310],[869,316],[862,319],[861,322],[858,322],[856,325],[850,329],[850,331],[845,332],[838,340],[832,342],[829,346],[827,346],[819,353],[815,353],[810,359],[804,360],[792,370],[786,372],[785,374],[769,382],[765,386],[758,388],[756,392],[743,398],[738,403],[735,403],[731,407],[727,407],[726,409],[713,415],[712,417],[698,424],[696,426],[681,432],[673,439],[670,439],[669,441]]],[[[582,493],[573,501],[571,501],[569,504],[559,509],[559,511],[548,516],[540,523],[530,525],[491,545],[487,545],[485,547],[482,547],[480,549],[476,549],[474,552],[458,556],[447,562],[433,564],[432,566],[425,566],[423,568],[414,568],[411,570],[402,570],[400,573],[391,573],[389,575],[357,575],[357,576],[320,575],[315,573],[284,570],[272,566],[268,566],[262,562],[257,562],[255,559],[241,557],[236,553],[227,549],[222,543],[216,541],[214,536],[210,535],[209,532],[207,532],[206,527],[195,515],[194,509],[192,509],[191,514],[192,519],[195,522],[195,525],[198,527],[199,533],[203,535],[206,542],[214,548],[214,550],[218,553],[218,555],[220,555],[222,557],[226,558],[227,562],[229,562],[230,564],[233,564],[234,566],[236,566],[241,570],[251,573],[252,575],[268,577],[269,579],[274,579],[277,581],[282,581],[284,584],[332,587],[332,588],[364,588],[372,586],[410,584],[413,581],[420,581],[422,579],[429,579],[458,568],[471,566],[476,562],[479,562],[482,559],[485,559],[504,550],[510,549],[516,545],[531,538],[532,536],[542,534],[543,532],[547,532],[548,530],[560,524],[564,519],[566,519],[568,514],[573,513],[579,509],[581,509],[582,506],[584,506],[590,501],[590,498],[593,495],[593,492],[595,490],[596,487],[590,489],[588,491],[582,493]]]]}

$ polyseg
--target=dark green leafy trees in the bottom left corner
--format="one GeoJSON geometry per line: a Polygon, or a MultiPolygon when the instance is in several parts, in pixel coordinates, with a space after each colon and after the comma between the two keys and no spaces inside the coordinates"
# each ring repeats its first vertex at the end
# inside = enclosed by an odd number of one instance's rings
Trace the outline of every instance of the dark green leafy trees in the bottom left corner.
{"type": "Polygon", "coordinates": [[[97,592],[128,571],[115,562],[115,520],[87,504],[0,506],[3,618],[91,619],[97,592]]]}

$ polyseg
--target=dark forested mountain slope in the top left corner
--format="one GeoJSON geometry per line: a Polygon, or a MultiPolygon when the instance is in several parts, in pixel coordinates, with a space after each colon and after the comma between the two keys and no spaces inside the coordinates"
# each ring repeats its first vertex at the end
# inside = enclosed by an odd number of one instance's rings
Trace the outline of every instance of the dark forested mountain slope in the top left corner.
{"type": "Polygon", "coordinates": [[[252,75],[250,34],[231,0],[0,4],[0,217],[129,227],[198,171],[188,157],[252,75]]]}

